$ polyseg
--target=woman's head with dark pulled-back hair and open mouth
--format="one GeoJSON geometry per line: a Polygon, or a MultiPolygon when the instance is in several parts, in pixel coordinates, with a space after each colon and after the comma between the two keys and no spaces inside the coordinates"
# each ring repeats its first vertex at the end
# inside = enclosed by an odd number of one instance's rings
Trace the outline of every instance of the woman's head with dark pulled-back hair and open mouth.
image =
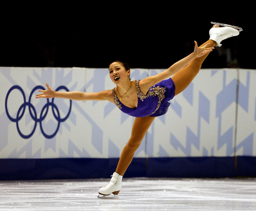
{"type": "Polygon", "coordinates": [[[115,84],[127,79],[130,80],[129,75],[130,70],[126,70],[121,62],[113,62],[109,65],[109,77],[115,84]]]}

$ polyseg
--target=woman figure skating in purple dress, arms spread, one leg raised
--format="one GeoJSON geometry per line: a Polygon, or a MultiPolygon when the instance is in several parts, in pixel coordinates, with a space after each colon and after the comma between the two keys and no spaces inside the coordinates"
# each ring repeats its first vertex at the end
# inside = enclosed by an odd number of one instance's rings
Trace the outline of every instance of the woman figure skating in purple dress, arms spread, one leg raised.
{"type": "Polygon", "coordinates": [[[71,100],[108,100],[115,103],[123,112],[134,116],[131,137],[124,147],[116,171],[110,182],[99,190],[101,195],[117,195],[122,187],[122,178],[132,162],[133,155],[156,116],[166,113],[169,103],[175,95],[181,93],[199,72],[204,59],[220,42],[239,31],[233,27],[214,25],[210,29],[210,39],[201,46],[195,41],[194,52],[173,64],[167,70],[142,80],[130,81],[130,68],[116,61],[109,65],[110,79],[116,84],[112,90],[98,93],[55,92],[46,83],[47,90],[37,94],[36,98],[66,98],[71,100]],[[173,75],[172,78],[169,78],[173,75]],[[169,78],[165,80],[166,78],[169,78]]]}

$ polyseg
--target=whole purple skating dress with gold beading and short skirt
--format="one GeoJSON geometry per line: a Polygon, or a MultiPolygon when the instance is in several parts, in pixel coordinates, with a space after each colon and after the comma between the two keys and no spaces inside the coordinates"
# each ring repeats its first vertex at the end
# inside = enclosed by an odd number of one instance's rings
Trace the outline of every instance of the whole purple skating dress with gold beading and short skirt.
{"type": "Polygon", "coordinates": [[[135,80],[138,106],[135,109],[125,106],[116,96],[115,89],[112,89],[116,106],[124,113],[132,117],[158,117],[164,115],[170,105],[170,101],[175,94],[175,85],[171,78],[163,80],[149,88],[148,93],[144,95],[140,91],[139,81],[135,80]]]}

